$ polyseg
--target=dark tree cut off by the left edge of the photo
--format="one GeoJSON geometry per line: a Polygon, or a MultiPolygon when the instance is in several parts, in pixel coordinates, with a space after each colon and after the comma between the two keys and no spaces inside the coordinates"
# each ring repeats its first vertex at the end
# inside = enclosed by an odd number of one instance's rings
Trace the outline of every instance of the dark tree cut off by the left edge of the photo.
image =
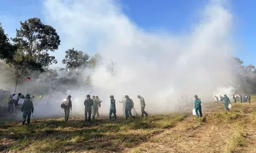
{"type": "Polygon", "coordinates": [[[9,38],[5,35],[2,24],[0,23],[0,59],[11,60],[15,50],[16,47],[10,43],[9,38]]]}

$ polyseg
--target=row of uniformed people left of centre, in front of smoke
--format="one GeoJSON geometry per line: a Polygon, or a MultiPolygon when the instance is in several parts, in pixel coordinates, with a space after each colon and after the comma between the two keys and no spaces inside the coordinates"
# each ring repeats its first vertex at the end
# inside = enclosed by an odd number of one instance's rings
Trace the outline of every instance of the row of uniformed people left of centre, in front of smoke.
{"type": "MultiPolygon", "coordinates": [[[[140,95],[138,95],[137,97],[140,99],[141,116],[144,117],[144,115],[146,115],[147,117],[148,113],[145,111],[145,106],[146,106],[145,100],[140,95]]],[[[111,95],[109,98],[110,98],[109,120],[111,121],[113,114],[116,120],[116,100],[114,99],[115,97],[113,95],[111,95]]],[[[133,100],[127,95],[125,95],[124,98],[125,100],[119,101],[119,103],[123,103],[125,120],[128,120],[130,116],[132,118],[135,118],[135,116],[132,115],[132,109],[134,109],[133,100]]],[[[102,101],[99,99],[98,96],[92,96],[91,98],[90,95],[86,95],[86,99],[84,100],[85,121],[91,121],[91,116],[92,116],[92,120],[94,120],[95,115],[97,115],[97,117],[99,118],[99,108],[101,107],[101,102],[102,101]]],[[[70,95],[66,99],[63,99],[61,108],[64,109],[65,122],[67,122],[70,110],[72,111],[72,101],[71,101],[70,95]]]]}

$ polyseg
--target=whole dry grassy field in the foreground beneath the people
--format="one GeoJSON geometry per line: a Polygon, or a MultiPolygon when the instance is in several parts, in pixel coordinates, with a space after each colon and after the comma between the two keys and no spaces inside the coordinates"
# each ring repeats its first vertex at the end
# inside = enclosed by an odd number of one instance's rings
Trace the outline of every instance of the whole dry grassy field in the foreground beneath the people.
{"type": "MultiPolygon", "coordinates": [[[[256,97],[236,103],[202,104],[203,118],[191,111],[116,121],[100,118],[0,123],[2,152],[256,152],[256,97]],[[187,115],[186,115],[187,114],[187,115]],[[250,115],[243,115],[250,114],[250,115]]],[[[189,109],[191,110],[191,109],[189,109]]]]}

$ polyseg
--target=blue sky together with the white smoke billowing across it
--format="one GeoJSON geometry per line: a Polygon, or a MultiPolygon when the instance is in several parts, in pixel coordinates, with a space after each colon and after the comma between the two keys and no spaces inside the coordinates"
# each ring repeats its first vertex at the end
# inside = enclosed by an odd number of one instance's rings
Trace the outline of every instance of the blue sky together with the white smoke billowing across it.
{"type": "MultiPolygon", "coordinates": [[[[230,84],[236,76],[230,72],[229,57],[237,55],[245,65],[256,65],[254,4],[249,1],[9,0],[0,6],[0,21],[11,37],[19,21],[28,18],[52,25],[61,39],[52,54],[59,65],[65,50],[73,47],[89,55],[101,53],[106,63],[86,69],[77,80],[90,76],[92,88],[81,91],[107,97],[106,101],[109,95],[119,99],[140,94],[154,106],[152,111],[159,111],[169,106],[166,97],[186,93],[211,99],[223,90],[232,95],[230,84]],[[107,69],[109,59],[116,63],[113,74],[107,69]]],[[[66,94],[76,95],[78,90],[66,94]]]]}

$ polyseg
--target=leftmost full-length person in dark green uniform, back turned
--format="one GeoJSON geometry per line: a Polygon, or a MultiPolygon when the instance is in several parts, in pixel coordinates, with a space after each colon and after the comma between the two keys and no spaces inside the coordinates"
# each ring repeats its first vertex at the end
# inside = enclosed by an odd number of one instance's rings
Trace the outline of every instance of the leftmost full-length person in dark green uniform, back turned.
{"type": "Polygon", "coordinates": [[[24,103],[23,103],[23,105],[21,107],[21,112],[23,112],[23,122],[22,122],[22,125],[25,124],[26,118],[27,118],[27,124],[30,123],[31,113],[34,112],[34,105],[33,105],[32,101],[30,100],[30,95],[27,94],[26,98],[27,98],[27,100],[24,101],[24,103]]]}

